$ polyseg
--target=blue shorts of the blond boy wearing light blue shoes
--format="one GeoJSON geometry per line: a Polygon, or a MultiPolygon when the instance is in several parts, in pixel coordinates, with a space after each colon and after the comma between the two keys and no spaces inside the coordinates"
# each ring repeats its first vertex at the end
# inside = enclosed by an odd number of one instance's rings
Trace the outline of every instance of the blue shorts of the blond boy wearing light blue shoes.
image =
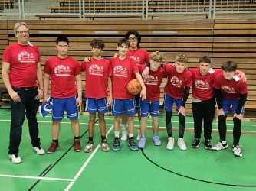
{"type": "Polygon", "coordinates": [[[147,99],[144,99],[140,102],[140,113],[142,117],[147,117],[150,114],[153,117],[157,117],[159,114],[159,100],[157,101],[149,101],[147,99]]]}

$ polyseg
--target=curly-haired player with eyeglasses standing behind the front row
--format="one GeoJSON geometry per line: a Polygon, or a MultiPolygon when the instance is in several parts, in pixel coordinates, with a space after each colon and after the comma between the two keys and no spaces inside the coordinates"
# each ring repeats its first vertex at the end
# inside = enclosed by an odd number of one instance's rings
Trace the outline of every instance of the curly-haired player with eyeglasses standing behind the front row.
{"type": "MultiPolygon", "coordinates": [[[[137,65],[149,63],[149,54],[147,53],[146,50],[139,47],[139,44],[141,41],[139,32],[134,31],[134,30],[127,31],[125,37],[130,43],[130,47],[129,47],[127,56],[132,58],[137,65]]],[[[138,113],[138,119],[140,121],[140,118],[141,118],[140,117],[140,103],[139,103],[138,95],[135,96],[135,102],[136,102],[135,103],[136,111],[138,113]]],[[[125,116],[123,116],[123,118],[122,118],[122,137],[121,137],[122,141],[127,140],[127,128],[126,128],[127,125],[126,124],[127,124],[127,118],[125,116]]],[[[137,136],[138,141],[139,141],[139,139],[140,139],[140,134],[138,134],[138,136],[137,136]]]]}

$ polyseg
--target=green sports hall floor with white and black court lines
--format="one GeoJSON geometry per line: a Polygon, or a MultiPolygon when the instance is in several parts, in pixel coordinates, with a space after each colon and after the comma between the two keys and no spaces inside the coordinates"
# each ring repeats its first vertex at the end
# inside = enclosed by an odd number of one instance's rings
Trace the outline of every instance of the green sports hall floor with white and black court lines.
{"type": "MultiPolygon", "coordinates": [[[[98,146],[98,125],[94,136],[94,151],[90,154],[73,151],[71,124],[64,119],[61,124],[60,147],[54,154],[38,156],[32,151],[28,124],[23,125],[20,146],[21,164],[8,160],[8,136],[10,115],[8,109],[0,110],[0,190],[107,190],[107,191],[256,191],[256,122],[244,121],[241,147],[244,157],[234,157],[231,151],[232,121],[228,121],[228,143],[225,151],[205,151],[190,147],[193,139],[193,121],[186,119],[185,142],[187,151],[175,145],[166,150],[167,138],[164,116],[159,118],[159,134],[162,146],[152,141],[152,131],[147,131],[144,150],[130,151],[123,141],[119,152],[103,152],[98,146]]],[[[108,141],[113,143],[113,118],[106,117],[108,141]]],[[[149,120],[150,121],[150,120],[149,120]]],[[[178,127],[178,118],[173,117],[173,127],[178,127]]],[[[84,149],[88,138],[88,116],[80,116],[81,145],[84,149]]],[[[51,117],[38,116],[41,146],[45,150],[51,144],[51,117]]],[[[139,126],[136,121],[136,128],[139,126]]],[[[150,123],[148,125],[150,127],[150,123]]],[[[212,144],[218,141],[216,121],[212,132],[212,144]]],[[[137,132],[137,131],[136,131],[137,132]]],[[[177,131],[174,133],[177,138],[177,131]]]]}

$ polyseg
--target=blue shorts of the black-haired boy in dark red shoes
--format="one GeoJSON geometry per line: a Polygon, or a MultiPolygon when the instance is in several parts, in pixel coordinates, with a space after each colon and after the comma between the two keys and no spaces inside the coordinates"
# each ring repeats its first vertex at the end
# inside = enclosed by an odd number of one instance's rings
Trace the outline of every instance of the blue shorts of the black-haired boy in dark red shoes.
{"type": "Polygon", "coordinates": [[[64,118],[64,111],[71,120],[78,118],[76,97],[52,98],[52,121],[61,121],[64,118]]]}

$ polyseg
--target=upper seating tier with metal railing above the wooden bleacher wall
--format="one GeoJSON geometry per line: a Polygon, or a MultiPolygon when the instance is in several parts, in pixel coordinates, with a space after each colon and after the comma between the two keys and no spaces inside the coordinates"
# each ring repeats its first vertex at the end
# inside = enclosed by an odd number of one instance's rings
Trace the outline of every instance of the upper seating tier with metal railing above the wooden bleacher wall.
{"type": "MultiPolygon", "coordinates": [[[[256,13],[253,0],[0,0],[0,16],[19,19],[52,15],[72,18],[128,17],[149,19],[166,15],[256,13]]],[[[51,17],[51,16],[49,16],[51,17]]]]}

